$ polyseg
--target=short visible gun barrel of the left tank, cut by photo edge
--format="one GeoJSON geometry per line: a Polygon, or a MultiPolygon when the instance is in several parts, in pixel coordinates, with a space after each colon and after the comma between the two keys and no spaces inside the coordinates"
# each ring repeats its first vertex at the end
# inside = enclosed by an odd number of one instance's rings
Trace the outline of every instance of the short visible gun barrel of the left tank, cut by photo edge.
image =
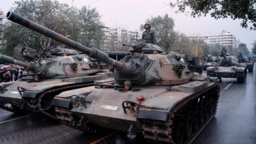
{"type": "Polygon", "coordinates": [[[18,66],[23,66],[24,68],[27,68],[31,71],[34,71],[36,69],[35,63],[29,63],[29,62],[26,63],[26,62],[23,62],[23,61],[18,61],[16,59],[14,59],[13,57],[8,57],[7,55],[1,55],[0,54],[0,61],[16,64],[18,66]]]}

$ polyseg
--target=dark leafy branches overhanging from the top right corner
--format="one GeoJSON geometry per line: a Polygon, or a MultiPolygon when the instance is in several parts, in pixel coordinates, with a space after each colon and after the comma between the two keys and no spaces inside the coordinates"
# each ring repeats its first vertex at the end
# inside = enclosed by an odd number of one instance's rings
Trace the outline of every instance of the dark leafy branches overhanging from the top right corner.
{"type": "Polygon", "coordinates": [[[213,18],[242,19],[242,27],[256,30],[256,1],[255,0],[175,0],[170,2],[171,8],[177,8],[176,12],[186,12],[190,8],[191,16],[206,16],[213,18]],[[251,23],[252,26],[248,26],[251,23]]]}

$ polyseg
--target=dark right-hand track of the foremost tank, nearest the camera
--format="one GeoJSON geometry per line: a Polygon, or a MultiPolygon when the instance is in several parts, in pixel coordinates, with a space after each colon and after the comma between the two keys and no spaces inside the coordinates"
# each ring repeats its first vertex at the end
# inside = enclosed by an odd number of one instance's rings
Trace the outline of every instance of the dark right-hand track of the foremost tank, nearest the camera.
{"type": "Polygon", "coordinates": [[[216,83],[185,98],[169,113],[167,121],[141,119],[145,139],[165,143],[193,143],[216,115],[219,89],[216,83]]]}

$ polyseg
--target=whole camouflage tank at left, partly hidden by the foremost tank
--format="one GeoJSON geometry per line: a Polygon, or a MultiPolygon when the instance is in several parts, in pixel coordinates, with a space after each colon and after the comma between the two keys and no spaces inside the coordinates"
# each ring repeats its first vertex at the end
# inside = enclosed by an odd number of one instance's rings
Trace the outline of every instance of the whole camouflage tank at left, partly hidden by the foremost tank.
{"type": "Polygon", "coordinates": [[[61,91],[89,86],[95,80],[112,76],[111,72],[101,70],[98,61],[87,55],[55,57],[40,63],[0,55],[0,61],[29,70],[30,76],[0,84],[1,108],[10,111],[27,108],[33,111],[48,110],[53,97],[61,91]]]}

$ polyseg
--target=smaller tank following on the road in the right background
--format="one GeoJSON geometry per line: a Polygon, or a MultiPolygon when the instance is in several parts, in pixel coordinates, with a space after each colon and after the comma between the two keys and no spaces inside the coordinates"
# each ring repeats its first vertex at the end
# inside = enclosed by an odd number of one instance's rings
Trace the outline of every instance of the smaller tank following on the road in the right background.
{"type": "Polygon", "coordinates": [[[208,67],[207,76],[217,76],[218,78],[236,78],[238,83],[244,83],[246,80],[246,66],[238,63],[238,59],[221,51],[217,66],[208,67]]]}

